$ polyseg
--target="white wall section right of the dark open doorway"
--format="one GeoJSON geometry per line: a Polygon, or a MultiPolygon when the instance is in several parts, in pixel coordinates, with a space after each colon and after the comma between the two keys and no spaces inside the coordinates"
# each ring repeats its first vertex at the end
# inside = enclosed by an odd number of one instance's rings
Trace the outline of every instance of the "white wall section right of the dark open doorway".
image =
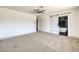
{"type": "Polygon", "coordinates": [[[79,8],[72,10],[68,22],[69,36],[79,38],[79,8]]]}

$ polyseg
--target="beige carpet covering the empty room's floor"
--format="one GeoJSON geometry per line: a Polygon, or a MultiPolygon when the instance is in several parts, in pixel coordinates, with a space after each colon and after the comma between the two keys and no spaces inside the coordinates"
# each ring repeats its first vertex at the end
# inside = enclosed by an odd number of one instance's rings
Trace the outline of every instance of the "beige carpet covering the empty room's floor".
{"type": "Polygon", "coordinates": [[[63,51],[79,51],[79,39],[45,32],[36,32],[0,41],[0,52],[63,51]]]}

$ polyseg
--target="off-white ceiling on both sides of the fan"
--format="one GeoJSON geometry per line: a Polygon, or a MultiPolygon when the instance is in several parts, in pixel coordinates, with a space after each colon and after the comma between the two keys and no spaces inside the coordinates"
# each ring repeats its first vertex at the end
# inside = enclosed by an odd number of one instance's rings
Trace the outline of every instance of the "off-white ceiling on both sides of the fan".
{"type": "MultiPolygon", "coordinates": [[[[39,6],[2,6],[2,7],[32,14],[33,10],[38,8],[39,6]]],[[[46,10],[45,12],[47,14],[49,14],[49,13],[55,13],[63,10],[72,9],[75,7],[76,6],[43,6],[43,9],[46,10]]]]}

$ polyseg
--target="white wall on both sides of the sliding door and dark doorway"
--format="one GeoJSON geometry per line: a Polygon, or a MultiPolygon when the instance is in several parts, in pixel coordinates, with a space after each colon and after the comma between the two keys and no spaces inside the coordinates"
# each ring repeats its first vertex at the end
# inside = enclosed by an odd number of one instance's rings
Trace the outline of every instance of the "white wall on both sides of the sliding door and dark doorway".
{"type": "MultiPolygon", "coordinates": [[[[67,10],[63,12],[71,12],[71,14],[68,14],[68,36],[79,38],[79,8],[76,8],[73,10],[67,10]]],[[[62,12],[59,12],[59,13],[62,13],[62,12]]],[[[57,13],[54,13],[54,14],[57,14],[57,13]]],[[[60,15],[60,16],[64,16],[64,15],[60,15]]],[[[50,15],[40,16],[39,21],[40,21],[39,30],[51,33],[50,15]]]]}

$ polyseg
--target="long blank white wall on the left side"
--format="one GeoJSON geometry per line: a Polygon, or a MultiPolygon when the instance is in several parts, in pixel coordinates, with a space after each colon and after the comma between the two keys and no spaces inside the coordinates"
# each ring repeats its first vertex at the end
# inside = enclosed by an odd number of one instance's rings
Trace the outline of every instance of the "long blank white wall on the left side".
{"type": "Polygon", "coordinates": [[[0,39],[36,32],[36,16],[0,8],[0,39]]]}

